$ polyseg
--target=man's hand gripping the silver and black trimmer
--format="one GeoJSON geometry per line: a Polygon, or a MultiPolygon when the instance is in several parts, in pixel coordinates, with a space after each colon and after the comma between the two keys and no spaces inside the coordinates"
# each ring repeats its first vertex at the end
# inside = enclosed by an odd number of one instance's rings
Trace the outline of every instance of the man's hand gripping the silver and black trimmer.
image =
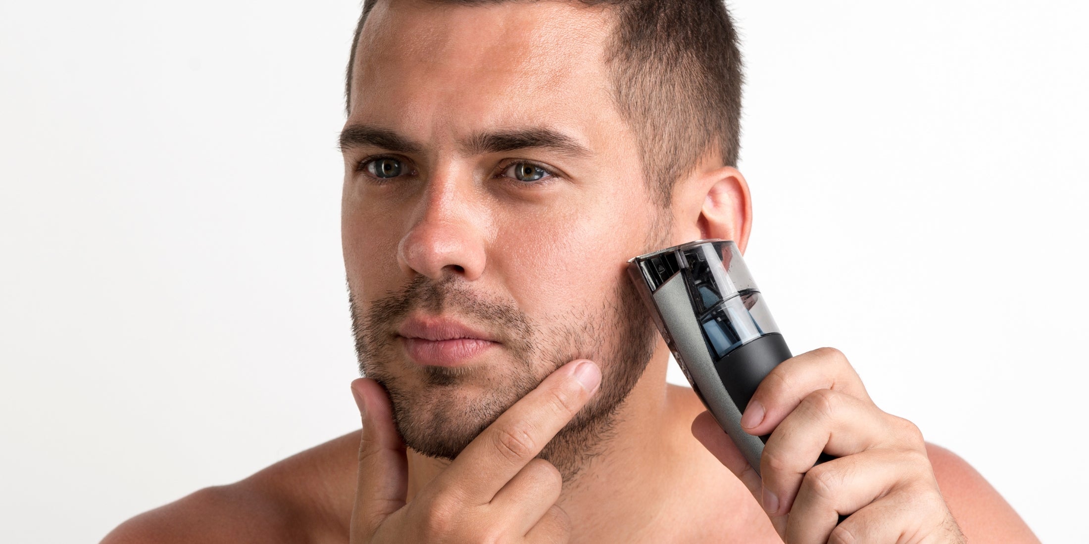
{"type": "Polygon", "coordinates": [[[788,544],[964,542],[919,429],[874,406],[839,350],[816,349],[775,367],[742,426],[771,433],[762,482],[709,412],[692,432],[745,483],[788,544]],[[813,467],[822,450],[839,459],[813,467]],[[841,514],[851,516],[837,526],[841,514]]]}

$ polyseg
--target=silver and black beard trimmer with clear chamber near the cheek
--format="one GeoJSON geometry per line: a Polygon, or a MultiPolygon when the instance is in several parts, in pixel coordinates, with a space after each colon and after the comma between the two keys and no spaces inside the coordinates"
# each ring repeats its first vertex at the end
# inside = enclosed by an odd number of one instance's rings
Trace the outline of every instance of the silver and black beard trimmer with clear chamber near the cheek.
{"type": "Polygon", "coordinates": [[[745,432],[742,412],[791,351],[737,247],[690,242],[636,257],[628,272],[693,391],[759,473],[768,437],[745,432]]]}

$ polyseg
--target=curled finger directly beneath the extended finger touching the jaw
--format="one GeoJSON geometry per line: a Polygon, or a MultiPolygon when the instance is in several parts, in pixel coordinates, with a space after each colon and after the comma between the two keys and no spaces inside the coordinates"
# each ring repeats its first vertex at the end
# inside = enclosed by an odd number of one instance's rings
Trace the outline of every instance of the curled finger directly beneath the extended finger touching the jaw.
{"type": "Polygon", "coordinates": [[[491,499],[491,506],[514,522],[515,534],[529,532],[560,498],[563,477],[544,459],[530,459],[491,499]]]}

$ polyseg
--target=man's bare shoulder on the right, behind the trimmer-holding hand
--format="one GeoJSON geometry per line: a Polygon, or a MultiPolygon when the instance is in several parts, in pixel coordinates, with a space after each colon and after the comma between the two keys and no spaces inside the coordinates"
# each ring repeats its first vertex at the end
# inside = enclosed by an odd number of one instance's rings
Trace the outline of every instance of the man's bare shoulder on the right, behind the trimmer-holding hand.
{"type": "Polygon", "coordinates": [[[927,443],[938,486],[968,542],[1039,543],[1010,503],[959,456],[927,443]]]}

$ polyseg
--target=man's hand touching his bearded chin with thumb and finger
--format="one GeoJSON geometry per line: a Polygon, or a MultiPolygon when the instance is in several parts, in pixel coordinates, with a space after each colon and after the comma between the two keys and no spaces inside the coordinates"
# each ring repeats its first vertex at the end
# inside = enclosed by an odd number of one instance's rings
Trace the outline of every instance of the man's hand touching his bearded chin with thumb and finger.
{"type": "Polygon", "coordinates": [[[484,430],[405,504],[405,446],[386,391],[352,382],[363,415],[352,543],[566,542],[556,506],[562,480],[537,454],[597,391],[597,364],[577,360],[553,372],[484,430]]]}

